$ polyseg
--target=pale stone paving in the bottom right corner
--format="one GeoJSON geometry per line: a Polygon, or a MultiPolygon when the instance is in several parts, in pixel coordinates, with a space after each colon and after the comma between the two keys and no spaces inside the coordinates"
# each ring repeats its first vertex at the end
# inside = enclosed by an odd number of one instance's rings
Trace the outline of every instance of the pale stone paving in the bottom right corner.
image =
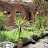
{"type": "Polygon", "coordinates": [[[45,37],[43,39],[40,39],[36,44],[29,44],[23,48],[47,48],[47,47],[44,47],[44,41],[46,41],[47,39],[48,37],[45,37]]]}

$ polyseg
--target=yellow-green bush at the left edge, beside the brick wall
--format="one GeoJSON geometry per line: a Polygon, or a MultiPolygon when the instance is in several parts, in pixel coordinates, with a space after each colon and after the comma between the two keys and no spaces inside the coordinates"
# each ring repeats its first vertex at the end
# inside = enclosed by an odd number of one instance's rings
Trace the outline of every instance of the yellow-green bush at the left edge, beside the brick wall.
{"type": "Polygon", "coordinates": [[[5,25],[7,24],[7,17],[4,12],[0,12],[0,30],[5,30],[5,25]]]}

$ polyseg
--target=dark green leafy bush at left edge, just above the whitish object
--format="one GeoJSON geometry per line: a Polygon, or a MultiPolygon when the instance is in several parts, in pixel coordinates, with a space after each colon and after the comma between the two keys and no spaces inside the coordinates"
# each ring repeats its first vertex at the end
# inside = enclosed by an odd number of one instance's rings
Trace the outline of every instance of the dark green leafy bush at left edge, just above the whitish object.
{"type": "Polygon", "coordinates": [[[14,38],[11,37],[11,34],[8,35],[6,31],[0,31],[0,42],[4,42],[4,41],[12,41],[13,42],[13,40],[14,40],[14,38]]]}

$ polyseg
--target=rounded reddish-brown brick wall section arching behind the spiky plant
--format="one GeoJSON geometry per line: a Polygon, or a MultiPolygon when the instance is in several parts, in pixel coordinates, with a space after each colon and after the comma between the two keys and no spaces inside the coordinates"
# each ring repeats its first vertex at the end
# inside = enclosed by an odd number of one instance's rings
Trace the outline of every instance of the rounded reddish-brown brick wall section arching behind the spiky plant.
{"type": "Polygon", "coordinates": [[[10,18],[10,25],[15,25],[14,24],[14,16],[16,15],[16,11],[19,11],[21,12],[20,15],[22,18],[24,18],[26,16],[26,20],[28,19],[27,18],[27,11],[26,9],[23,7],[23,5],[14,5],[12,8],[11,8],[11,18],[10,18]]]}

